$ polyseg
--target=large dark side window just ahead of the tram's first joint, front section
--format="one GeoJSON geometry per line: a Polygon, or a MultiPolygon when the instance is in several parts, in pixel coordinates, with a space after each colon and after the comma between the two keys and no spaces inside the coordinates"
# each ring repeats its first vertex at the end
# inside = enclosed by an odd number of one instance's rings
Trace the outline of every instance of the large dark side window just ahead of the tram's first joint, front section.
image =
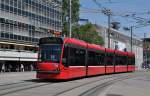
{"type": "Polygon", "coordinates": [[[69,47],[69,66],[85,66],[85,50],[69,47]]]}

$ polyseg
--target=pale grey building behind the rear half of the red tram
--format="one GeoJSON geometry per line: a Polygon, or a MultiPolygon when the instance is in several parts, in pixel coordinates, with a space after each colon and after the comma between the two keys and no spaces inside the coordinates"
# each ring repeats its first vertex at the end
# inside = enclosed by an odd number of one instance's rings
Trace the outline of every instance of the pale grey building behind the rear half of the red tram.
{"type": "MultiPolygon", "coordinates": [[[[104,38],[105,47],[108,48],[108,29],[102,26],[97,26],[99,35],[104,38]]],[[[117,30],[110,30],[110,48],[131,52],[131,37],[127,36],[117,30]]],[[[143,63],[143,41],[133,37],[132,52],[135,53],[135,66],[137,70],[141,69],[143,63]]]]}

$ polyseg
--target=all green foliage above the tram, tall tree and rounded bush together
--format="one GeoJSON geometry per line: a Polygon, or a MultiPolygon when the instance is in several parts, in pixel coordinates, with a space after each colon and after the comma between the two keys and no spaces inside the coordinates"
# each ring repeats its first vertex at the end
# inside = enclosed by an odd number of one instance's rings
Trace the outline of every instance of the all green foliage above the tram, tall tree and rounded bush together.
{"type": "MultiPolygon", "coordinates": [[[[62,32],[66,36],[69,35],[69,0],[62,0],[62,32]]],[[[98,35],[96,28],[91,23],[86,25],[78,26],[77,22],[79,20],[79,0],[72,0],[72,36],[80,40],[84,40],[89,43],[95,43],[98,45],[103,45],[104,41],[101,36],[98,35]]]]}

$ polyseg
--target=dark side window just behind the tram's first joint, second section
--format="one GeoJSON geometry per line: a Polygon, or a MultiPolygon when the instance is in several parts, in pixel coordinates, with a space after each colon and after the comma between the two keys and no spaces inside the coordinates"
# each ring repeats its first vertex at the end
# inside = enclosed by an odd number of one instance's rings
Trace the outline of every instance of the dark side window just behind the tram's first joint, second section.
{"type": "Polygon", "coordinates": [[[97,66],[99,64],[99,54],[93,51],[88,51],[88,65],[97,66]]]}

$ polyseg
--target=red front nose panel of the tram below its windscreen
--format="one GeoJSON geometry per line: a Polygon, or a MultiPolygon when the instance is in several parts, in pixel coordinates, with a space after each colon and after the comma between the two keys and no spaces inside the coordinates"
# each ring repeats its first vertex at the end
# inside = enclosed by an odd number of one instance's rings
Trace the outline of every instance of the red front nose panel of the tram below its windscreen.
{"type": "Polygon", "coordinates": [[[58,63],[42,62],[38,64],[38,70],[54,71],[58,69],[58,63]]]}

